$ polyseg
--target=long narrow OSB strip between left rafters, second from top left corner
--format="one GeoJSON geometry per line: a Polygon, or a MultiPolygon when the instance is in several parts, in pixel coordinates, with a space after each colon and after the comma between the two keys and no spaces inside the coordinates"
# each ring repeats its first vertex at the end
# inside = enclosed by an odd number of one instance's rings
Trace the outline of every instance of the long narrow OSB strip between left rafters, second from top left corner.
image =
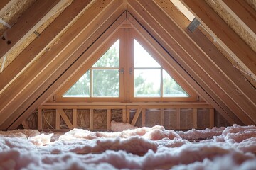
{"type": "MultiPolygon", "coordinates": [[[[60,6],[60,8],[58,9],[57,12],[53,13],[52,16],[49,16],[48,20],[46,20],[46,22],[44,22],[41,26],[39,26],[36,29],[36,32],[40,35],[43,32],[43,30],[45,30],[50,25],[50,23],[52,23],[55,20],[55,18],[57,18],[60,15],[60,13],[62,13],[63,10],[65,10],[65,8],[67,8],[72,3],[72,1],[73,0],[66,0],[65,3],[62,6],[60,6]]],[[[2,65],[2,62],[4,62],[4,68],[3,69],[5,69],[37,37],[38,37],[38,35],[36,35],[35,33],[31,33],[31,35],[29,35],[28,38],[26,38],[26,40],[21,42],[18,45],[18,47],[15,48],[15,50],[10,52],[6,56],[5,61],[4,61],[4,59],[0,60],[0,66],[2,65]]],[[[41,53],[41,55],[43,55],[43,53],[41,53]]]]}

